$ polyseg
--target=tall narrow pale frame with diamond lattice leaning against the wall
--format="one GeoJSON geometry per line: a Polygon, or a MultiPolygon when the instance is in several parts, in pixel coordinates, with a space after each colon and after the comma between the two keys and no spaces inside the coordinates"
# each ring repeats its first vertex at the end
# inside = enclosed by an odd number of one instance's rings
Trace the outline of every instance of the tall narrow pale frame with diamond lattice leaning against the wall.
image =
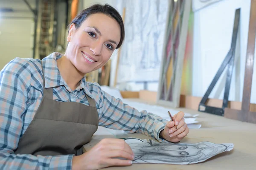
{"type": "Polygon", "coordinates": [[[160,105],[177,108],[180,104],[181,77],[191,3],[191,0],[178,0],[177,2],[172,0],[169,2],[168,13],[172,14],[167,17],[167,38],[163,47],[157,92],[157,103],[160,105]],[[182,18],[180,19],[181,15],[182,18]],[[169,77],[170,74],[171,77],[169,77]]]}

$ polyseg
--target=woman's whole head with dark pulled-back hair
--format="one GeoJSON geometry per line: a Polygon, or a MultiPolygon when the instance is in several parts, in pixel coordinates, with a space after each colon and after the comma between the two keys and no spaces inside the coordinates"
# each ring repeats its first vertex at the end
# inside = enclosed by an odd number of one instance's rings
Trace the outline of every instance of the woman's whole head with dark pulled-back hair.
{"type": "MultiPolygon", "coordinates": [[[[113,51],[122,45],[124,37],[124,24],[117,11],[110,6],[91,6],[81,11],[69,25],[67,50],[58,62],[70,60],[76,71],[84,76],[102,68],[113,51]]],[[[68,63],[62,62],[58,68],[64,70],[68,63]]]]}

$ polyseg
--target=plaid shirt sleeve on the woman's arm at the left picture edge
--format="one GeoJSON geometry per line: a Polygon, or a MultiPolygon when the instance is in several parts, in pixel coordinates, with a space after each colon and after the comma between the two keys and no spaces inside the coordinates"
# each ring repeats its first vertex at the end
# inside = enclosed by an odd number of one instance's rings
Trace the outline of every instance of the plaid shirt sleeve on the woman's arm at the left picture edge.
{"type": "Polygon", "coordinates": [[[16,58],[0,71],[0,169],[70,169],[73,155],[33,156],[14,154],[23,129],[22,117],[31,78],[28,60],[16,58]]]}

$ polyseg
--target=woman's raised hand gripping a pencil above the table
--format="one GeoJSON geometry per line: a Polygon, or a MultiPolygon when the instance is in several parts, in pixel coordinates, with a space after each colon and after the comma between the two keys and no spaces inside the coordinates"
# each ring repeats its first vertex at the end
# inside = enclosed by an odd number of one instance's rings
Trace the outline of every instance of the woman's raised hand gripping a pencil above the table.
{"type": "Polygon", "coordinates": [[[179,142],[189,133],[189,128],[187,124],[184,122],[184,113],[179,112],[172,116],[174,121],[170,121],[164,127],[164,129],[160,133],[160,137],[166,139],[169,142],[179,142]],[[175,128],[177,125],[177,129],[175,128]]]}

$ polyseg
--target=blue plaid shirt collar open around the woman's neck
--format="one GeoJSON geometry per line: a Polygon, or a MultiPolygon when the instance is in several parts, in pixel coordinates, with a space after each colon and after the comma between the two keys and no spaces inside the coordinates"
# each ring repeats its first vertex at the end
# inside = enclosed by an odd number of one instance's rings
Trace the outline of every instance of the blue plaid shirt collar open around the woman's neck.
{"type": "MultiPolygon", "coordinates": [[[[57,59],[60,59],[62,56],[63,56],[62,54],[58,52],[54,52],[42,60],[43,68],[44,68],[44,79],[45,79],[44,87],[54,88],[57,86],[64,85],[68,91],[73,92],[71,88],[67,85],[63,77],[61,76],[60,71],[58,70],[57,59]]],[[[89,92],[89,90],[86,88],[85,83],[86,83],[86,79],[84,76],[80,81],[80,85],[76,88],[76,91],[80,91],[81,89],[84,89],[86,93],[89,92]]]]}

